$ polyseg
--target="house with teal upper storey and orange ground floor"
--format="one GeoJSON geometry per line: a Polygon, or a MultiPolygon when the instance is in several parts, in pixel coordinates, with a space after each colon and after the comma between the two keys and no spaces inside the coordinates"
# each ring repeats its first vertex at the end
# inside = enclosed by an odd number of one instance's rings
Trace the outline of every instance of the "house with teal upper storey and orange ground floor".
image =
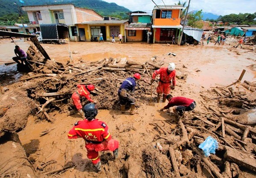
{"type": "Polygon", "coordinates": [[[128,12],[129,21],[131,22],[125,28],[126,41],[147,41],[149,43],[152,34],[151,31],[151,14],[144,11],[128,12]]]}

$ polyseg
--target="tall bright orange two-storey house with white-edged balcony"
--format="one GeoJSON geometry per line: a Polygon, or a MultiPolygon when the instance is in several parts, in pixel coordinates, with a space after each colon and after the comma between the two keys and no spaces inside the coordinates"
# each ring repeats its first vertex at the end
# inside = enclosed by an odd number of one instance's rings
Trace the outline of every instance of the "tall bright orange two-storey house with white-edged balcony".
{"type": "Polygon", "coordinates": [[[154,6],[153,8],[153,43],[171,42],[172,36],[179,37],[181,5],[154,6]]]}

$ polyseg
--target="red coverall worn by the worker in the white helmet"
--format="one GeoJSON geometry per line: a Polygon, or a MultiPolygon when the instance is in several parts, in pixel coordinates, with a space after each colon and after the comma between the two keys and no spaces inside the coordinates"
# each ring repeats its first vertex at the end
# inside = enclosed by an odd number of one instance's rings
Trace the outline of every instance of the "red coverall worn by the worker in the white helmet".
{"type": "Polygon", "coordinates": [[[176,80],[175,80],[175,76],[176,76],[176,71],[173,70],[169,75],[167,72],[168,67],[162,67],[158,70],[156,70],[153,73],[153,80],[155,80],[156,75],[160,75],[160,80],[158,83],[158,86],[156,88],[156,92],[158,95],[162,95],[163,97],[166,98],[166,96],[170,93],[171,91],[171,81],[173,82],[173,86],[176,86],[176,80]]]}

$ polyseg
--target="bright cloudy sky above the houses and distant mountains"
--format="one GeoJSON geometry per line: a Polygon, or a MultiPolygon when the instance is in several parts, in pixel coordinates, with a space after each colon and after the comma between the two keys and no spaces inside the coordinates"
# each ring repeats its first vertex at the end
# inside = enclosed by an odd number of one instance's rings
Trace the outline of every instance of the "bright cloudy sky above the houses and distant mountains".
{"type": "MultiPolygon", "coordinates": [[[[104,0],[108,3],[116,3],[119,6],[124,6],[131,11],[145,11],[152,13],[155,4],[152,0],[104,0]]],[[[153,0],[157,5],[173,5],[179,0],[153,0]]],[[[188,0],[180,0],[187,2],[188,0]]],[[[203,10],[215,15],[228,15],[239,13],[256,12],[256,0],[191,0],[189,11],[203,10]]]]}

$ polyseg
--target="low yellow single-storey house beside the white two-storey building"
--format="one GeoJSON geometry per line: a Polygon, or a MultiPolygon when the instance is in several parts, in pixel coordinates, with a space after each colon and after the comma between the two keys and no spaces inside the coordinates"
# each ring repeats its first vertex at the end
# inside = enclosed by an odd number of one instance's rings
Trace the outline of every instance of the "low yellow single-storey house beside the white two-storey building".
{"type": "Polygon", "coordinates": [[[128,20],[94,20],[77,23],[76,26],[79,29],[80,40],[82,41],[90,41],[91,37],[99,37],[100,33],[103,34],[103,40],[111,41],[111,33],[116,38],[119,33],[125,37],[124,29],[128,24],[128,20]]]}

